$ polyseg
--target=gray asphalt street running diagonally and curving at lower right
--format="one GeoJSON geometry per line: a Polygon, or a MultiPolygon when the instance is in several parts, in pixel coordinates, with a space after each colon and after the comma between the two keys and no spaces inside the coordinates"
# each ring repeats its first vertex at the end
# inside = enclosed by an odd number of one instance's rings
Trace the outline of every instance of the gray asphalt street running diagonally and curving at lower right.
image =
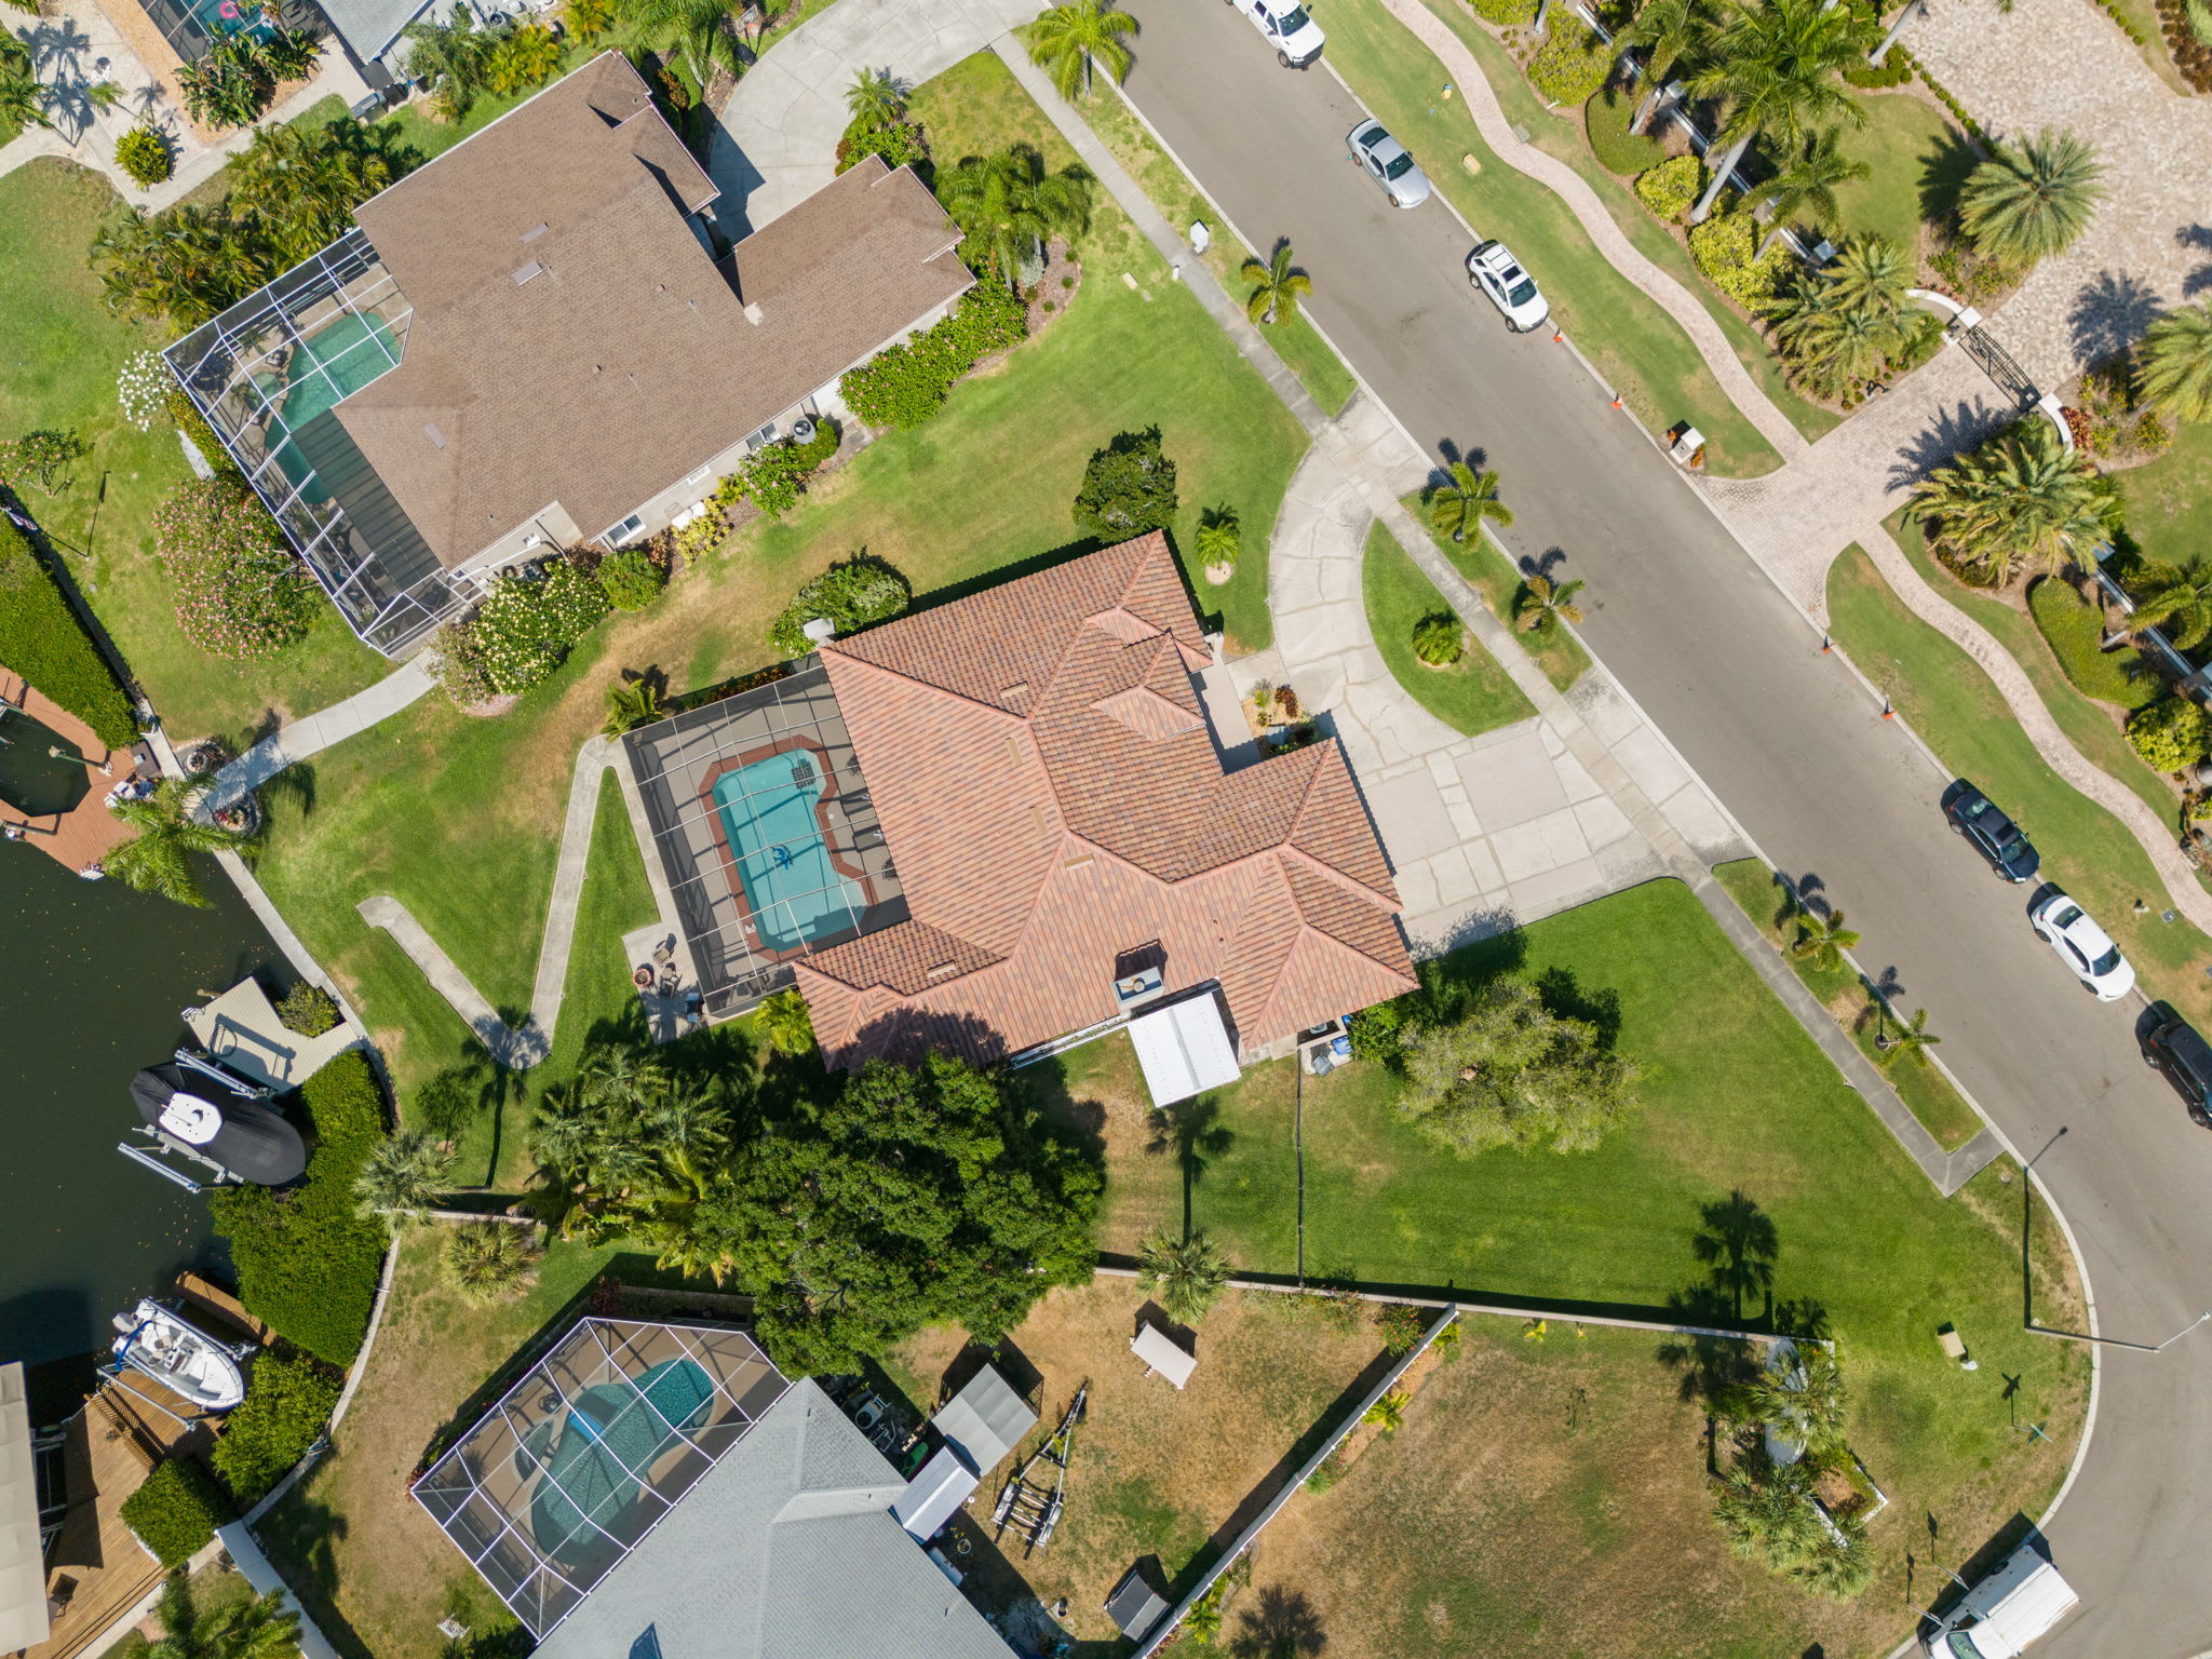
{"type": "MultiPolygon", "coordinates": [[[[1181,161],[1256,246],[1292,239],[1312,314],[1431,453],[1473,449],[1500,469],[1517,513],[1506,544],[1557,549],[1588,582],[1593,650],[1761,849],[1849,911],[1860,962],[1893,967],[1905,1004],[1931,1011],[1944,1062],[2022,1155],[2048,1144],[2035,1168],[2079,1241],[2104,1334],[2157,1343],[2212,1307],[2212,1135],[2146,1068],[2141,1000],[2099,1004],[2064,971],[2028,929],[2033,885],[2000,883],[1944,832],[1949,776],[1820,655],[1575,358],[1548,332],[1509,334],[1469,288],[1449,208],[1396,210],[1347,159],[1365,111],[1332,73],[1281,69],[1230,7],[1128,11],[1144,24],[1128,93],[1181,161]]],[[[2104,1349],[2090,1453],[2048,1528],[2084,1608],[2037,1655],[2212,1648],[2208,1524],[2212,1325],[2157,1356],[2104,1349]]],[[[1978,1544],[1938,1553],[1955,1564],[1978,1544]]]]}

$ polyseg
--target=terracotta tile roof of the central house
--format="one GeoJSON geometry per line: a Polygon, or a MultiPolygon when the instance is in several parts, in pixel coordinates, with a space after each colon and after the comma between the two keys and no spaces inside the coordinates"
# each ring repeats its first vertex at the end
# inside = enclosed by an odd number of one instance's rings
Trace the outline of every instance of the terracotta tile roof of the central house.
{"type": "Polygon", "coordinates": [[[799,964],[832,1064],[1095,1024],[1139,949],[1245,1046],[1413,987],[1343,752],[1223,774],[1206,661],[1161,535],[823,648],[911,911],[799,964]]]}

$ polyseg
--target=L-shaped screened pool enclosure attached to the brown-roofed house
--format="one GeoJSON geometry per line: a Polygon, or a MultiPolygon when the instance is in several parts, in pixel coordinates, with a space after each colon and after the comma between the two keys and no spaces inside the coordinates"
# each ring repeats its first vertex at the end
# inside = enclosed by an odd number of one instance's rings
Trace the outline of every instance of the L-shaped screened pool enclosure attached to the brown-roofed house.
{"type": "Polygon", "coordinates": [[[398,367],[411,316],[356,228],[161,354],[338,613],[387,657],[473,597],[334,414],[398,367]]]}

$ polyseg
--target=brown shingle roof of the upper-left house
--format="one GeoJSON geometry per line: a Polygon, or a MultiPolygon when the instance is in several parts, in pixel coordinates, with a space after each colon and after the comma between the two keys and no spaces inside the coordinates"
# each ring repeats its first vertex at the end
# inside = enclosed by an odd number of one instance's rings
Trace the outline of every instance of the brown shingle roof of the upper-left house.
{"type": "Polygon", "coordinates": [[[973,281],[878,157],[721,265],[714,195],[604,53],[354,210],[414,321],[338,420],[440,562],[553,502],[602,533],[973,281]]]}

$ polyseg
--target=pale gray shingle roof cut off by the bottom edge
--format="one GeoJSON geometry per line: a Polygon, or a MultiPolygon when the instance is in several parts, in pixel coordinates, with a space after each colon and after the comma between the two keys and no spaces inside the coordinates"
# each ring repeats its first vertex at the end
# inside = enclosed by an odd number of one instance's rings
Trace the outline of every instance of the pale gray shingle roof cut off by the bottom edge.
{"type": "Polygon", "coordinates": [[[905,1482],[814,1383],[794,1383],[538,1659],[1009,1659],[891,1520],[905,1482]]]}

